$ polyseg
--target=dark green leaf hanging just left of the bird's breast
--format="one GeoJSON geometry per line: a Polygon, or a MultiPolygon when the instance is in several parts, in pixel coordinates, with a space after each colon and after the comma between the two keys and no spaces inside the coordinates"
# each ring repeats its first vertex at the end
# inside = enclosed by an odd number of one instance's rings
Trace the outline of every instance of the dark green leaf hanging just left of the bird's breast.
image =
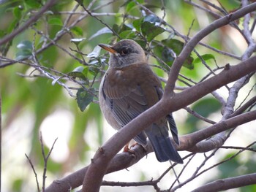
{"type": "MultiPolygon", "coordinates": [[[[91,91],[92,93],[95,93],[94,88],[90,88],[89,91],[91,91]]],[[[78,89],[77,102],[78,102],[78,107],[82,112],[86,110],[86,107],[91,103],[91,101],[93,101],[93,99],[94,99],[94,96],[91,93],[87,92],[83,88],[78,89]]]]}

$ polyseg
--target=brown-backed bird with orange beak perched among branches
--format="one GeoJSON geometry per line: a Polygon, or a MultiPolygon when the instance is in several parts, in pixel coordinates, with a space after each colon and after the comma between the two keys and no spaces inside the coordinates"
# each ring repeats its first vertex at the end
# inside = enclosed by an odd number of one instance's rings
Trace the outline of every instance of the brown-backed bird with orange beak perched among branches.
{"type": "MultiPolygon", "coordinates": [[[[162,84],[148,65],[143,48],[134,40],[122,39],[113,46],[99,47],[110,53],[108,70],[99,85],[99,106],[110,126],[119,130],[162,98],[162,84]]],[[[152,123],[133,139],[145,147],[148,137],[159,162],[183,164],[170,141],[168,128],[179,145],[172,114],[152,123]]]]}

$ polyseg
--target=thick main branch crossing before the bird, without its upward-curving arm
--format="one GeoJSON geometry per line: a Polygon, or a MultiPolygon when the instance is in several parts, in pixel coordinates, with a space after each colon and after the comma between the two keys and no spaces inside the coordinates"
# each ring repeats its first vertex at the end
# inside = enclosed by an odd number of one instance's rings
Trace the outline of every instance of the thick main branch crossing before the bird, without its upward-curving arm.
{"type": "Polygon", "coordinates": [[[127,126],[121,128],[113,137],[111,137],[105,145],[100,148],[94,155],[87,172],[83,188],[86,191],[99,191],[99,186],[102,177],[108,169],[108,164],[121,147],[123,147],[130,139],[135,137],[146,128],[154,123],[159,118],[169,114],[170,112],[179,110],[192,104],[197,99],[200,99],[206,94],[215,91],[216,89],[226,85],[229,82],[238,80],[244,75],[256,71],[256,57],[249,58],[248,60],[236,66],[228,66],[220,74],[217,74],[210,79],[200,82],[192,88],[187,89],[181,93],[177,93],[170,99],[162,99],[155,104],[151,109],[143,112],[137,118],[132,120],[127,126]]]}

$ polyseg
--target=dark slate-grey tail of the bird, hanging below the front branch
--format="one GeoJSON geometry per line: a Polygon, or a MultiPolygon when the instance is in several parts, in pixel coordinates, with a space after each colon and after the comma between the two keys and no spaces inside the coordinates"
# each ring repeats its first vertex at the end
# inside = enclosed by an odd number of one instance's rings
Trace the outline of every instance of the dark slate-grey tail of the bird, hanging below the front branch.
{"type": "Polygon", "coordinates": [[[178,155],[176,148],[170,141],[167,128],[159,128],[159,126],[153,124],[152,128],[146,129],[146,134],[154,148],[158,161],[165,162],[170,160],[183,164],[181,156],[178,155]]]}

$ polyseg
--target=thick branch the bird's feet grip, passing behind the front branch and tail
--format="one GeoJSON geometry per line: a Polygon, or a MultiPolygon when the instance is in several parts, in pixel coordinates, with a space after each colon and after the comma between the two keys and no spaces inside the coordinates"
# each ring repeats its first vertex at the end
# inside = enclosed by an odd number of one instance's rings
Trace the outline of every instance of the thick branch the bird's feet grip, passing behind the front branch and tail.
{"type": "MultiPolygon", "coordinates": [[[[202,141],[203,139],[206,139],[213,136],[214,134],[218,134],[222,131],[228,130],[229,128],[239,126],[243,123],[247,123],[255,119],[256,111],[246,112],[237,117],[224,120],[208,128],[204,128],[195,133],[187,134],[180,137],[180,145],[177,148],[178,150],[192,150],[193,152],[202,152],[200,147],[198,148],[197,145],[195,146],[197,142],[199,142],[200,144],[200,141],[202,141]]],[[[212,146],[214,146],[214,143],[212,143],[212,146]]],[[[211,148],[212,147],[208,147],[208,150],[211,150],[211,148]]],[[[153,148],[148,142],[146,149],[143,149],[143,147],[141,147],[140,145],[135,145],[135,147],[132,148],[132,151],[134,151],[134,154],[127,152],[117,154],[110,162],[107,173],[126,169],[129,166],[136,164],[147,153],[153,152],[153,148]]],[[[206,150],[204,150],[204,152],[206,152],[206,150]]],[[[78,170],[77,172],[69,174],[67,177],[64,177],[61,180],[54,181],[48,188],[46,188],[45,192],[63,192],[68,191],[69,188],[73,189],[79,187],[83,183],[83,177],[86,174],[88,168],[89,166],[86,166],[83,169],[78,170]]]]}

